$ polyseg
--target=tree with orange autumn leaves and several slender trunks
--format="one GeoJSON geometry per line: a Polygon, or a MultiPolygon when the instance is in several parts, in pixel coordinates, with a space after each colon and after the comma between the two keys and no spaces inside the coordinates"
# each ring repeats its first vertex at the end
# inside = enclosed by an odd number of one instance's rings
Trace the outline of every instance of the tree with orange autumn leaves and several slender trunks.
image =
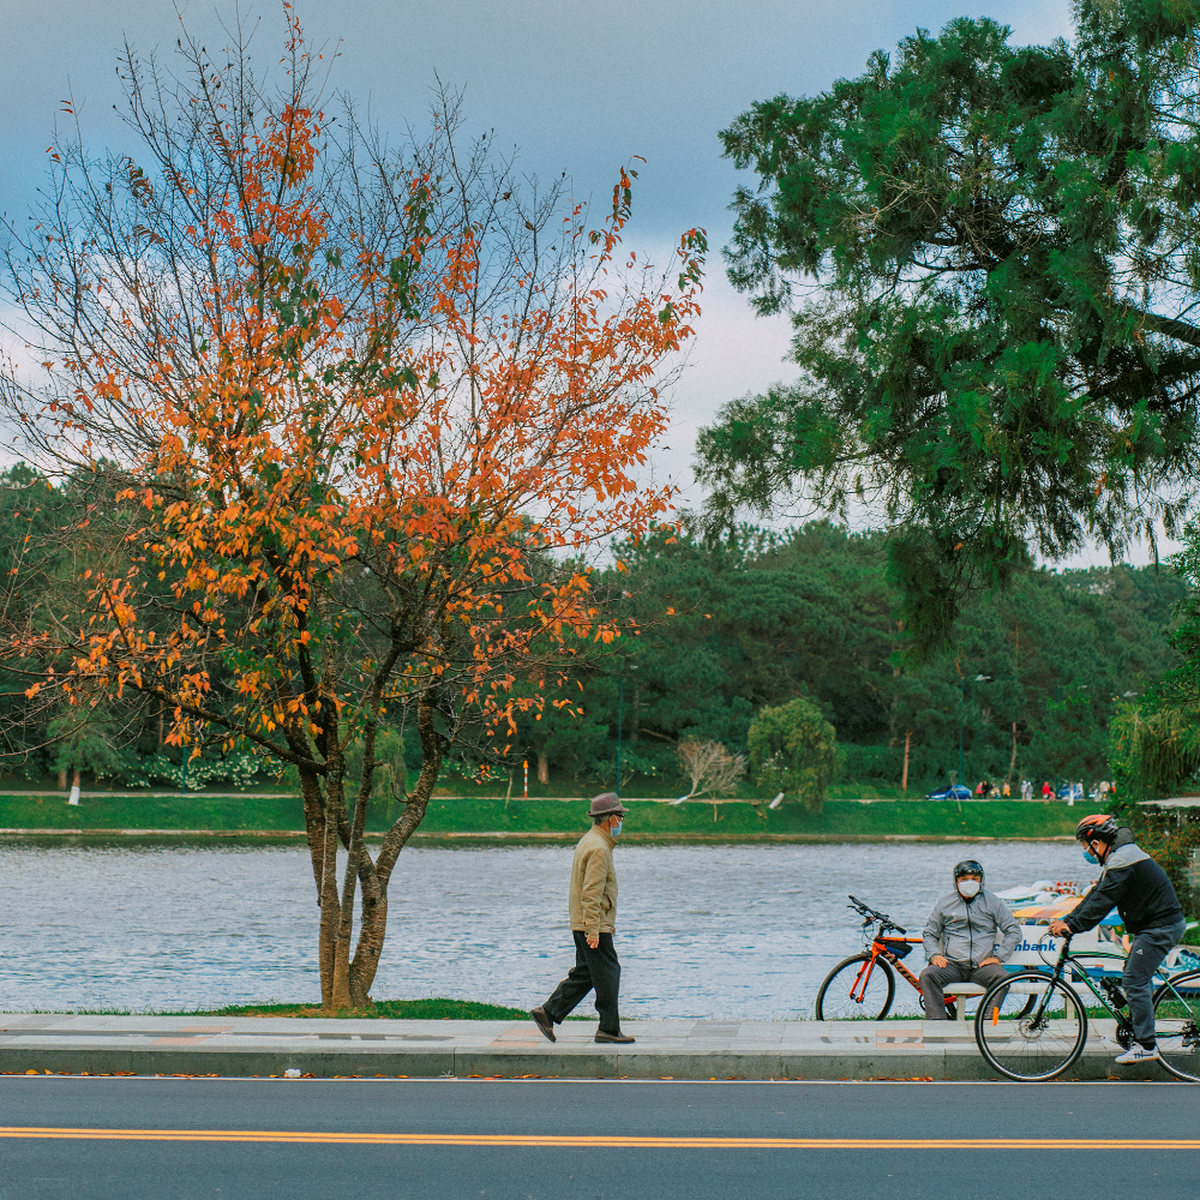
{"type": "Polygon", "coordinates": [[[368,1002],[446,750],[539,704],[528,680],[558,678],[578,638],[619,632],[586,564],[668,505],[634,472],[704,241],[655,275],[622,244],[632,172],[592,227],[486,142],[463,152],[452,102],[403,152],[353,110],[332,124],[290,12],[272,91],[236,41],[218,66],[185,36],[174,89],[127,50],[145,162],[89,160],[76,136],[54,204],[10,229],[44,372],[4,377],[23,454],[107,473],[125,522],[78,611],[49,594],[8,631],[10,665],[30,696],[140,695],[174,744],[294,768],[335,1010],[368,1002]],[[376,746],[403,720],[420,774],[372,852],[376,746]]]}

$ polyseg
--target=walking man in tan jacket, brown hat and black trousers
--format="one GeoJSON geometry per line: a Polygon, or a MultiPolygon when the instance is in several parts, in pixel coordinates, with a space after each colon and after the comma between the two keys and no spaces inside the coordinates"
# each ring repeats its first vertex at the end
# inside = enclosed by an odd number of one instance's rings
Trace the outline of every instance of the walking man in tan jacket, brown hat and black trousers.
{"type": "Polygon", "coordinates": [[[612,865],[612,847],[628,811],[616,792],[598,796],[589,810],[592,828],[575,847],[569,901],[575,966],[545,1004],[529,1010],[538,1028],[551,1042],[557,1040],[554,1026],[562,1025],[571,1009],[593,990],[600,1014],[596,1042],[625,1045],[634,1040],[620,1032],[617,1007],[620,962],[612,944],[617,922],[617,871],[612,865]]]}

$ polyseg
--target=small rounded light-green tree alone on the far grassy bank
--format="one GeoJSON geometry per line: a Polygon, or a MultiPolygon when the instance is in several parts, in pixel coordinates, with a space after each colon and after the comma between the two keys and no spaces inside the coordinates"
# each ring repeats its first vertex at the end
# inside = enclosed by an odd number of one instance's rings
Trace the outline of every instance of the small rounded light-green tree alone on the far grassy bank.
{"type": "Polygon", "coordinates": [[[797,696],[779,708],[764,708],[750,725],[750,768],[761,787],[794,796],[820,812],[826,790],[838,773],[838,736],[821,709],[797,696]]]}

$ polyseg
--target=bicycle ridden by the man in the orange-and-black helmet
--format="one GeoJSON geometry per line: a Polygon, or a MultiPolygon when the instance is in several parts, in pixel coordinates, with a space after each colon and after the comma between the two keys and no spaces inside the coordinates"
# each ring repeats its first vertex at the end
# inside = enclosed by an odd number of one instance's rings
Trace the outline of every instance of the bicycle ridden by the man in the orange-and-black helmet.
{"type": "MultiPolygon", "coordinates": [[[[1088,991],[1116,1022],[1115,1042],[1129,1049],[1126,998],[1116,979],[1097,983],[1087,972],[1084,961],[1094,959],[1124,961],[1106,950],[1074,955],[1067,937],[1052,968],[1018,971],[988,990],[976,1013],[976,1044],[996,1070],[1022,1082],[1061,1075],[1084,1052],[1088,991]]],[[[1160,970],[1159,976],[1154,1037],[1163,1067],[1177,1079],[1200,1082],[1200,971],[1166,976],[1160,970]]]]}

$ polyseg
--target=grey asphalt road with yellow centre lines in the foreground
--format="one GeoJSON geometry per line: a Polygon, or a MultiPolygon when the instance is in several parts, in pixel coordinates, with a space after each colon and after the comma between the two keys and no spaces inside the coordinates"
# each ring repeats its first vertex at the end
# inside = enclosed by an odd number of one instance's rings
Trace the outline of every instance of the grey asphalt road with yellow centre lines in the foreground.
{"type": "Polygon", "coordinates": [[[1174,1200],[1198,1115],[1186,1084],[4,1076],[0,1200],[1174,1200]]]}

